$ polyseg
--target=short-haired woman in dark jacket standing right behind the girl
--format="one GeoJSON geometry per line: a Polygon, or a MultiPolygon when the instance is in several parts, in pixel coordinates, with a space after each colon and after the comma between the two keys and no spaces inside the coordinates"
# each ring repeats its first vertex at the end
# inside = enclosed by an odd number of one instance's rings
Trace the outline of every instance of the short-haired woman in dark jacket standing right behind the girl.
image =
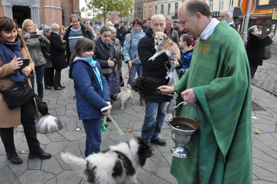
{"type": "Polygon", "coordinates": [[[111,42],[111,30],[108,26],[103,26],[99,31],[99,36],[95,40],[94,60],[101,66],[103,76],[108,79],[112,68],[117,66],[117,55],[114,44],[111,42]]]}

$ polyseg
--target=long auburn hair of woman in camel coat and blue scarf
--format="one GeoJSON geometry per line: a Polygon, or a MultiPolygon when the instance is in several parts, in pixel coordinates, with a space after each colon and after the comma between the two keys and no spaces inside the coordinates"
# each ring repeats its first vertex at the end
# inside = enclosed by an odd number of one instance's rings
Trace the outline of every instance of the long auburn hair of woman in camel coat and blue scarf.
{"type": "MultiPolygon", "coordinates": [[[[17,31],[17,37],[21,41],[21,48],[26,46],[25,41],[22,38],[21,33],[17,29],[17,23],[10,19],[9,17],[0,17],[0,31],[12,31],[14,28],[16,28],[17,31]]],[[[5,41],[1,36],[0,36],[1,41],[5,41]]]]}

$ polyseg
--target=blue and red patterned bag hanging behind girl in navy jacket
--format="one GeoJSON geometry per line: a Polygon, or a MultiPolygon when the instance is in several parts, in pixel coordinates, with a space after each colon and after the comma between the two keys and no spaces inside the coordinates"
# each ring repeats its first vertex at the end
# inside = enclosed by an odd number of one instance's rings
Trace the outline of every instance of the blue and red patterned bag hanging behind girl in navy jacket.
{"type": "Polygon", "coordinates": [[[116,71],[115,67],[113,67],[112,73],[108,76],[107,82],[108,82],[108,86],[109,86],[111,95],[120,93],[119,71],[116,71]]]}

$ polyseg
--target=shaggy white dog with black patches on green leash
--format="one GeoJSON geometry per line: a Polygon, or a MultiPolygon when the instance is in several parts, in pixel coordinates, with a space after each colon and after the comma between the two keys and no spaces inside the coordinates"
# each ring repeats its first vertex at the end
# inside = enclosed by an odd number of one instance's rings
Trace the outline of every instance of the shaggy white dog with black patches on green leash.
{"type": "Polygon", "coordinates": [[[108,150],[94,153],[85,159],[61,152],[61,158],[73,169],[86,175],[87,181],[94,184],[137,183],[136,172],[143,167],[146,158],[152,156],[149,147],[140,137],[110,146],[108,150]]]}

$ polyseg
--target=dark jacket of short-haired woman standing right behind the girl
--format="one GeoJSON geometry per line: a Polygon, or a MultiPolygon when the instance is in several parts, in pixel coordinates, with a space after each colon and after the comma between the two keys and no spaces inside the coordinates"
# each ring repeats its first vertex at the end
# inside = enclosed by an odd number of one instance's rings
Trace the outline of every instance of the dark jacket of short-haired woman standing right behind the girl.
{"type": "Polygon", "coordinates": [[[117,65],[117,55],[115,52],[114,44],[109,43],[108,46],[102,42],[100,36],[97,39],[93,40],[95,43],[94,55],[92,58],[100,64],[101,68],[108,67],[108,59],[112,60],[117,65]]]}

